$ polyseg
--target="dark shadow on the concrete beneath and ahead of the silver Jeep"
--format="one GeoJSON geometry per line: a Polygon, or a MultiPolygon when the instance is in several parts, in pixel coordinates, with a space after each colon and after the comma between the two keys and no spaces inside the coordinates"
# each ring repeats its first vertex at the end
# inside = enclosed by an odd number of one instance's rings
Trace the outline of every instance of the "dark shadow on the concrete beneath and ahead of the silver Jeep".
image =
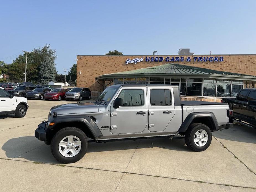
{"type": "MultiPolygon", "coordinates": [[[[87,153],[119,151],[127,149],[143,149],[159,147],[165,150],[190,151],[185,145],[184,139],[141,139],[95,143],[89,142],[87,153]]],[[[38,141],[34,136],[25,136],[9,139],[2,146],[6,157],[17,160],[29,160],[40,163],[60,164],[51,154],[50,146],[38,141]],[[33,148],[31,147],[33,146],[33,148]]]]}

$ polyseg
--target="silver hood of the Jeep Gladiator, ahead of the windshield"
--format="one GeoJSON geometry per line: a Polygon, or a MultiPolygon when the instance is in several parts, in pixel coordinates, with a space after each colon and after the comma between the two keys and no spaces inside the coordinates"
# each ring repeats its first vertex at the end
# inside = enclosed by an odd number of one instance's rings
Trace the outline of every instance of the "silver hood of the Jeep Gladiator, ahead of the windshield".
{"type": "Polygon", "coordinates": [[[74,114],[74,113],[96,113],[99,112],[99,108],[96,104],[87,102],[87,103],[69,103],[57,105],[51,108],[51,114],[53,111],[56,112],[57,115],[63,114],[74,114]]]}

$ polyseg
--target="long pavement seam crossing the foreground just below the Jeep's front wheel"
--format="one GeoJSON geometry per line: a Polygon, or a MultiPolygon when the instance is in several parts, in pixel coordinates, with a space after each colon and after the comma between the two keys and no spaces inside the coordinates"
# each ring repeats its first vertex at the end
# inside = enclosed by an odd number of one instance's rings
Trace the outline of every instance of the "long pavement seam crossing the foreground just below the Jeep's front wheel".
{"type": "MultiPolygon", "coordinates": [[[[64,164],[52,164],[52,163],[41,163],[41,162],[35,162],[35,161],[24,161],[24,160],[18,160],[18,159],[7,159],[7,158],[1,158],[4,160],[11,160],[11,161],[19,161],[19,162],[26,162],[26,163],[34,163],[34,164],[44,164],[44,165],[55,165],[60,167],[71,167],[71,168],[78,168],[78,169],[89,169],[89,170],[97,170],[97,171],[107,171],[107,172],[114,172],[114,173],[127,173],[127,174],[133,174],[133,175],[141,175],[141,176],[148,176],[148,177],[157,177],[157,178],[166,178],[166,179],[174,179],[174,180],[180,180],[180,181],[192,181],[196,183],[206,183],[206,184],[213,184],[213,185],[221,185],[221,186],[229,186],[229,187],[239,187],[239,188],[247,188],[247,189],[256,189],[256,187],[247,187],[247,186],[239,186],[239,185],[229,185],[229,184],[222,184],[222,183],[211,183],[207,181],[198,181],[198,180],[190,180],[190,179],[181,179],[181,178],[175,178],[175,177],[164,177],[164,176],[158,176],[158,175],[148,175],[148,174],[142,174],[142,173],[133,173],[133,172],[123,172],[123,171],[113,171],[113,170],[105,170],[105,169],[97,169],[97,168],[88,168],[88,167],[76,167],[71,165],[64,165],[64,164]]],[[[4,164],[3,162],[2,164],[4,164]]],[[[121,180],[120,180],[121,181],[121,180]]],[[[119,181],[119,183],[120,183],[119,181]]],[[[118,183],[118,184],[119,184],[118,183]]]]}

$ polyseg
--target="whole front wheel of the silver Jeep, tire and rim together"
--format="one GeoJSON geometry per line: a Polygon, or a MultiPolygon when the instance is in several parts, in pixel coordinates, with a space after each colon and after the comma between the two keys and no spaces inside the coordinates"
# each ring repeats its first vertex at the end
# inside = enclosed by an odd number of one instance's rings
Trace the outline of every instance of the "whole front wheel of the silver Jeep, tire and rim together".
{"type": "Polygon", "coordinates": [[[82,159],[88,149],[86,134],[78,128],[66,127],[51,140],[51,153],[61,163],[74,163],[82,159]]]}

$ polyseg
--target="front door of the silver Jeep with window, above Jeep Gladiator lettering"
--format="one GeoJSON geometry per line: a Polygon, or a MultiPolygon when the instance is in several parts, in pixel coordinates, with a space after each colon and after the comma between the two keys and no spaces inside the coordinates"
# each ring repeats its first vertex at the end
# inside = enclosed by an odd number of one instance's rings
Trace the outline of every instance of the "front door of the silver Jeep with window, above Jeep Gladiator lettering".
{"type": "Polygon", "coordinates": [[[146,87],[123,87],[116,98],[123,98],[123,106],[115,109],[111,105],[111,133],[141,133],[148,125],[146,87]]]}

